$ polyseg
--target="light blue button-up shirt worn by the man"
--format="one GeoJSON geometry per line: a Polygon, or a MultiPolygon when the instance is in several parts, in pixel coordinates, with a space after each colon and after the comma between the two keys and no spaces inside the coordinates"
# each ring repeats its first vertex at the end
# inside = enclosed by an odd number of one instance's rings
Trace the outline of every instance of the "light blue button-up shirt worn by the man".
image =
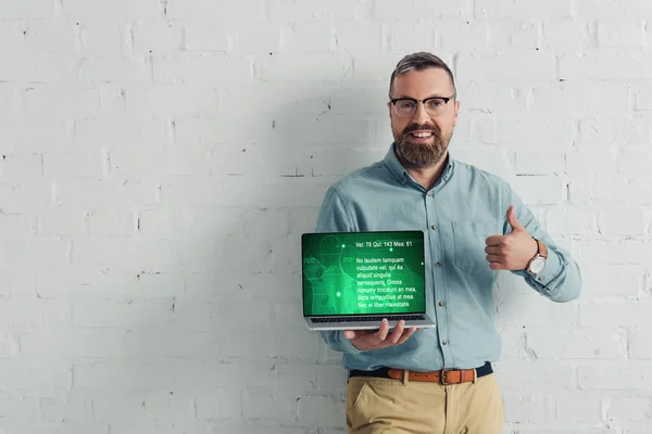
{"type": "Polygon", "coordinates": [[[344,368],[432,371],[497,361],[501,339],[493,323],[492,286],[498,271],[489,268],[485,240],[511,232],[506,220],[511,205],[529,234],[549,252],[546,268],[536,278],[524,270],[512,272],[554,302],[577,298],[581,286],[577,264],[494,175],[449,157],[437,183],[426,190],[401,165],[392,145],[384,161],[330,187],[317,232],[426,232],[426,309],[437,323],[401,345],[367,352],[355,348],[341,331],[321,332],[333,349],[343,353],[344,368]]]}

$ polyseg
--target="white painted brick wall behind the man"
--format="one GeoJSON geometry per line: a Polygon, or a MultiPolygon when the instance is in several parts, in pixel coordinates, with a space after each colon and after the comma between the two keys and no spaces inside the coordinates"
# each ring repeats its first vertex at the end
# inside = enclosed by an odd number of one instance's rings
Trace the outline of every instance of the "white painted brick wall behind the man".
{"type": "Polygon", "coordinates": [[[582,269],[567,305],[501,278],[504,432],[652,432],[651,29],[649,0],[0,0],[0,434],[342,433],[299,237],[417,50],[459,78],[455,155],[582,269]]]}

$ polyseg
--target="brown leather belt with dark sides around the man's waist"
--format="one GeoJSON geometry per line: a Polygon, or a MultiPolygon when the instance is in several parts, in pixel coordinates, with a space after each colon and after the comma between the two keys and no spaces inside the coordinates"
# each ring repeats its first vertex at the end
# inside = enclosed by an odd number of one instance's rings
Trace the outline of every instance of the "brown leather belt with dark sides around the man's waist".
{"type": "Polygon", "coordinates": [[[380,368],[375,371],[349,371],[349,378],[351,376],[379,376],[386,379],[401,380],[401,381],[425,381],[430,383],[439,383],[443,385],[448,384],[462,384],[468,382],[475,382],[476,379],[488,375],[493,372],[493,368],[490,362],[477,369],[443,369],[440,371],[431,372],[416,372],[409,371],[405,369],[389,369],[380,368]],[[405,378],[405,375],[408,378],[405,378]]]}

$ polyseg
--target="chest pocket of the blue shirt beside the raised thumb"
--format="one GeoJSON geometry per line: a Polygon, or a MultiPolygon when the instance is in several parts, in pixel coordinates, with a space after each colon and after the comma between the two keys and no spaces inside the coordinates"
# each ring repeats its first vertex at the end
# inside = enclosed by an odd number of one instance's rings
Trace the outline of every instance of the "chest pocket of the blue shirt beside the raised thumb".
{"type": "Polygon", "coordinates": [[[453,261],[467,272],[489,270],[485,247],[491,235],[501,235],[499,225],[489,221],[453,221],[453,261]]]}

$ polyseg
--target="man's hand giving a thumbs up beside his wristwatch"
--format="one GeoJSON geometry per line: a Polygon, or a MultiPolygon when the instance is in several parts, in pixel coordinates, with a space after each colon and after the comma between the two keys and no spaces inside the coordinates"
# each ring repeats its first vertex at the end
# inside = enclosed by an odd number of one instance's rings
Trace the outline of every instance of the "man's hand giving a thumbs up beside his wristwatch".
{"type": "Polygon", "coordinates": [[[493,235],[486,240],[487,261],[492,270],[523,270],[537,254],[537,242],[514,214],[514,205],[507,209],[507,222],[512,232],[493,235]]]}

